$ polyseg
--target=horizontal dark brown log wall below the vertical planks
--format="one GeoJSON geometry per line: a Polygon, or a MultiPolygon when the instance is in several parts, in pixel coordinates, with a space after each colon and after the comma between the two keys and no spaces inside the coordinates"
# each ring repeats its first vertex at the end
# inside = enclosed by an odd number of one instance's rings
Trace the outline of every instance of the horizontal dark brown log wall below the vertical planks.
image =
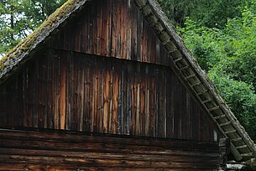
{"type": "Polygon", "coordinates": [[[216,170],[219,167],[217,142],[3,129],[0,140],[0,170],[216,170]]]}

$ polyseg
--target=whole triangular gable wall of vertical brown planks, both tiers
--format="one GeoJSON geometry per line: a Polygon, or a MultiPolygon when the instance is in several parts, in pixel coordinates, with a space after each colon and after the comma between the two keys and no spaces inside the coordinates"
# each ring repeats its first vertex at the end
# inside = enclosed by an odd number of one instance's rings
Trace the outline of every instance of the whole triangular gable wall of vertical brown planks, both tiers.
{"type": "Polygon", "coordinates": [[[131,1],[90,1],[32,58],[0,88],[6,101],[0,127],[217,141],[205,111],[170,67],[170,54],[131,1]]]}

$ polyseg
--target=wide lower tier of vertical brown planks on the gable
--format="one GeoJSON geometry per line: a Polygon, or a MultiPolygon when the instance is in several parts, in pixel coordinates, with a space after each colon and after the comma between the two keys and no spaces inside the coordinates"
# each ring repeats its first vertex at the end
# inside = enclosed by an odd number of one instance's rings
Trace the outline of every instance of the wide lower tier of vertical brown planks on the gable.
{"type": "Polygon", "coordinates": [[[214,141],[204,111],[170,67],[44,52],[1,86],[0,127],[214,141]]]}

